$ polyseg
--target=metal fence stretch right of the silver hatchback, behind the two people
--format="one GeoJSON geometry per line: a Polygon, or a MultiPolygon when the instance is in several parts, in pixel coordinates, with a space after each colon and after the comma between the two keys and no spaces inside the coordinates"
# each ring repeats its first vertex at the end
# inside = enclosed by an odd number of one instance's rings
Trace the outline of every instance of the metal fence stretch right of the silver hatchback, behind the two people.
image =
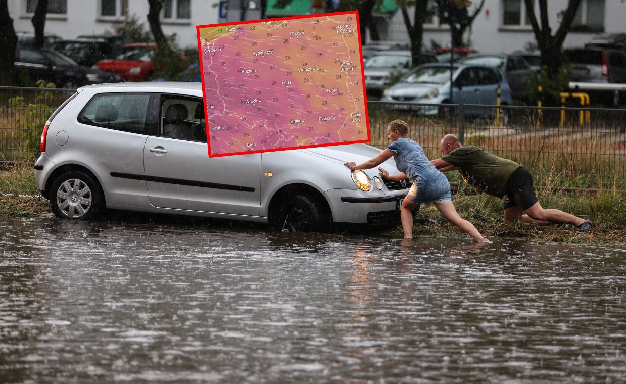
{"type": "Polygon", "coordinates": [[[429,158],[447,133],[531,170],[542,184],[612,187],[626,174],[626,110],[533,106],[368,103],[371,145],[388,145],[386,126],[409,124],[429,158]]]}

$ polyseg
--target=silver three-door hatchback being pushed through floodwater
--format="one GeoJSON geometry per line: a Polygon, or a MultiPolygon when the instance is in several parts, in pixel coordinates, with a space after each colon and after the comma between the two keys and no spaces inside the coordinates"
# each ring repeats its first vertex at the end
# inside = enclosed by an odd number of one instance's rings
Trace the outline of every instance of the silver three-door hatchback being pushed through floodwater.
{"type": "MultiPolygon", "coordinates": [[[[321,231],[332,222],[388,226],[410,184],[347,169],[365,144],[208,157],[200,83],[79,88],[41,136],[35,179],[64,219],[103,207],[270,222],[321,231]]],[[[398,174],[393,160],[382,167],[398,174]]]]}

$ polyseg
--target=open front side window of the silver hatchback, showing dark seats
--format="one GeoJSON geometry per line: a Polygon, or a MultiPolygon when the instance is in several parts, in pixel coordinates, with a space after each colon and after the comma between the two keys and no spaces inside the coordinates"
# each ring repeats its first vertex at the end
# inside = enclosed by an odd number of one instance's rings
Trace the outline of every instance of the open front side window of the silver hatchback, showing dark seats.
{"type": "Polygon", "coordinates": [[[207,142],[204,121],[204,101],[201,98],[162,95],[161,131],[165,137],[207,142]]]}

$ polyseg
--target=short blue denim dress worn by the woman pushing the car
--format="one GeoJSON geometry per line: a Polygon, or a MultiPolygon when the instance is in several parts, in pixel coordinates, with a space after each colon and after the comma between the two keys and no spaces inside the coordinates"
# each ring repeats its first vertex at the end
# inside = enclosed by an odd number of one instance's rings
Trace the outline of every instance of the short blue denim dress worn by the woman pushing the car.
{"type": "Polygon", "coordinates": [[[406,196],[414,204],[452,200],[450,184],[426,157],[423,148],[410,138],[401,137],[389,144],[396,168],[411,180],[411,190],[406,196]]]}

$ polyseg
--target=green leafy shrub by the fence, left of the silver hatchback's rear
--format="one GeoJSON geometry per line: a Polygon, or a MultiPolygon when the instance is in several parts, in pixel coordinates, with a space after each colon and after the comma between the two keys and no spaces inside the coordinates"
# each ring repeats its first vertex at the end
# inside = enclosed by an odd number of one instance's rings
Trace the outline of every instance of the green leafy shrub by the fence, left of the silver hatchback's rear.
{"type": "Polygon", "coordinates": [[[48,83],[45,80],[37,81],[37,86],[43,91],[37,92],[32,103],[26,103],[22,96],[9,99],[9,106],[19,111],[15,118],[16,124],[18,127],[24,128],[19,139],[33,153],[39,150],[41,130],[43,130],[48,117],[54,112],[53,92],[44,90],[56,88],[53,83],[48,83]]]}

